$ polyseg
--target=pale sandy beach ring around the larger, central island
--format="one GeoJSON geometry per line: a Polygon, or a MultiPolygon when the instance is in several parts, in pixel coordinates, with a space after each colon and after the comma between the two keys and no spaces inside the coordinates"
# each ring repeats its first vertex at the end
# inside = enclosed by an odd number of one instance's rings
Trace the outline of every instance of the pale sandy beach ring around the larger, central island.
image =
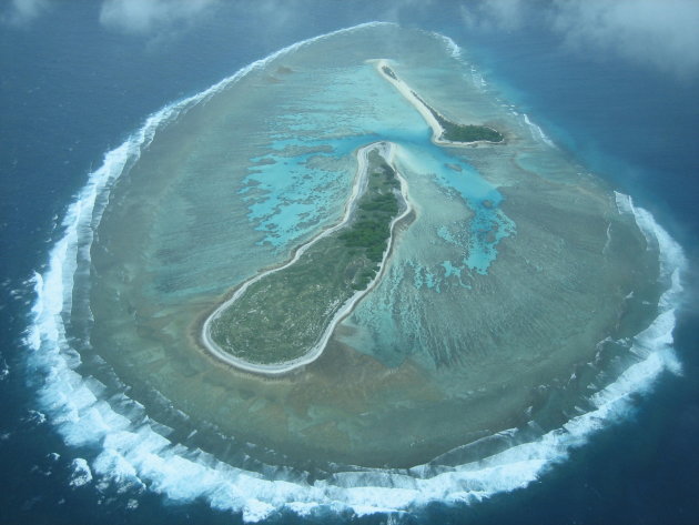
{"type": "Polygon", "coordinates": [[[292,372],[296,368],[300,368],[302,366],[305,366],[310,363],[313,363],[315,360],[317,360],[322,354],[323,351],[325,350],[325,347],[327,346],[327,342],[332,335],[332,333],[334,332],[335,327],[337,326],[337,324],[344,319],[346,317],[352,310],[354,309],[354,306],[356,305],[356,303],[364,297],[364,295],[366,295],[372,289],[374,289],[374,286],[377,284],[378,280],[383,276],[384,274],[384,270],[386,266],[386,261],[388,260],[388,256],[392,252],[393,249],[393,241],[394,241],[394,231],[395,231],[395,226],[398,222],[401,222],[402,220],[404,220],[406,216],[408,216],[411,213],[413,213],[413,206],[411,205],[411,202],[408,200],[407,196],[407,181],[401,175],[401,173],[395,170],[395,166],[393,165],[394,162],[394,155],[395,155],[395,149],[396,149],[396,144],[392,143],[392,142],[387,142],[387,141],[378,141],[378,142],[372,142],[371,144],[364,145],[362,148],[359,148],[356,152],[356,157],[357,157],[357,171],[355,174],[355,181],[354,184],[352,186],[352,194],[350,195],[350,199],[347,200],[347,203],[345,204],[345,213],[342,218],[342,220],[326,228],[325,230],[323,230],[322,232],[320,232],[316,236],[314,236],[313,239],[311,239],[310,241],[307,241],[305,244],[302,244],[301,246],[296,248],[292,253],[292,258],[284,264],[274,266],[270,270],[266,270],[251,279],[249,279],[247,281],[245,281],[244,283],[242,283],[233,293],[233,295],[231,295],[231,297],[229,297],[226,301],[224,301],[223,303],[221,303],[211,314],[209,314],[206,316],[206,319],[204,320],[203,324],[202,324],[202,329],[201,329],[201,336],[200,336],[200,342],[203,344],[204,349],[211,354],[213,355],[215,359],[217,359],[219,361],[222,361],[225,364],[229,364],[231,366],[234,366],[239,370],[242,370],[244,372],[251,372],[254,374],[260,374],[260,375],[265,375],[265,376],[280,376],[283,374],[286,374],[288,372],[292,372]],[[331,233],[340,230],[341,228],[343,228],[351,219],[352,215],[356,209],[356,203],[358,201],[358,199],[362,196],[362,194],[364,193],[364,190],[366,189],[367,182],[368,182],[368,153],[371,151],[374,150],[378,150],[378,154],[381,157],[384,158],[384,160],[392,165],[392,168],[394,168],[395,170],[395,176],[398,179],[398,182],[401,183],[401,195],[403,196],[403,200],[405,202],[405,210],[403,211],[403,213],[401,213],[399,215],[396,215],[392,221],[391,221],[391,226],[389,226],[389,231],[391,231],[391,235],[388,238],[388,245],[386,246],[386,251],[384,252],[384,256],[381,261],[379,264],[379,269],[378,272],[376,272],[376,275],[374,276],[374,279],[369,282],[369,284],[367,285],[367,287],[365,290],[358,291],[356,292],[354,295],[352,295],[352,297],[350,297],[350,300],[335,313],[335,315],[333,316],[333,319],[331,320],[331,322],[327,324],[325,331],[323,332],[323,335],[321,336],[320,341],[311,347],[311,350],[302,355],[301,357],[296,357],[292,361],[284,361],[281,363],[271,363],[271,364],[259,364],[259,363],[251,363],[249,361],[245,361],[243,359],[240,357],[235,357],[234,355],[225,352],[224,350],[221,349],[221,346],[219,346],[213,339],[211,337],[211,323],[224,311],[226,310],[231,304],[233,304],[235,301],[237,301],[239,297],[241,297],[243,295],[243,293],[245,293],[245,291],[250,287],[250,285],[252,285],[253,283],[260,281],[261,279],[263,279],[264,276],[274,273],[274,272],[278,272],[292,264],[294,264],[300,258],[301,255],[303,255],[303,253],[311,248],[313,244],[315,244],[317,241],[320,241],[321,239],[330,235],[331,233]]]}

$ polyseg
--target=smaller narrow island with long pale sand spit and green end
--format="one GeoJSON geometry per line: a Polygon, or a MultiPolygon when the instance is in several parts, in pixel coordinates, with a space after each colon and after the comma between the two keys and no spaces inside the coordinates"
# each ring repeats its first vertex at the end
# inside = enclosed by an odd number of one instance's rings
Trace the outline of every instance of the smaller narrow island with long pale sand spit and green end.
{"type": "Polygon", "coordinates": [[[457,124],[452,122],[437,110],[425,102],[411,87],[405,83],[386,60],[376,61],[377,71],[388,80],[411,102],[427,121],[433,130],[433,142],[439,145],[462,145],[478,143],[498,143],[505,138],[503,134],[487,125],[457,124]]]}

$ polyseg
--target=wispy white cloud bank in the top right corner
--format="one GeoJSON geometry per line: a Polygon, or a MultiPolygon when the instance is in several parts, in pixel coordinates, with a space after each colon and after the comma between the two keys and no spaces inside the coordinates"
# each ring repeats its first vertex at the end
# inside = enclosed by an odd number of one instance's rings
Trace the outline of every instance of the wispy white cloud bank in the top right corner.
{"type": "Polygon", "coordinates": [[[569,50],[699,75],[696,0],[472,0],[462,18],[469,29],[548,30],[569,50]]]}

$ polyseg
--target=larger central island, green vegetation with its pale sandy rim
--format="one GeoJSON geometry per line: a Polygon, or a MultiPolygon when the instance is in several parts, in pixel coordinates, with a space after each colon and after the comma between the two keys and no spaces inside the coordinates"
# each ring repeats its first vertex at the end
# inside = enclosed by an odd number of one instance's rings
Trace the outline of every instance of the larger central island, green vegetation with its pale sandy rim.
{"type": "Polygon", "coordinates": [[[322,354],[336,324],[377,282],[395,225],[412,211],[394,149],[389,142],[361,148],[342,221],[243,283],[205,320],[202,341],[214,356],[278,375],[322,354]]]}

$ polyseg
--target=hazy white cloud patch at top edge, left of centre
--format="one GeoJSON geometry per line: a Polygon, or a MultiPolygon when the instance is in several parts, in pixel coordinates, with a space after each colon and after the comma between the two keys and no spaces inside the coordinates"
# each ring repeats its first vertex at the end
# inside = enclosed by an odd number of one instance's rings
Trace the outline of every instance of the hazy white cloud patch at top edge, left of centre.
{"type": "Polygon", "coordinates": [[[100,23],[132,34],[152,34],[186,27],[219,0],[104,0],[100,23]]]}

